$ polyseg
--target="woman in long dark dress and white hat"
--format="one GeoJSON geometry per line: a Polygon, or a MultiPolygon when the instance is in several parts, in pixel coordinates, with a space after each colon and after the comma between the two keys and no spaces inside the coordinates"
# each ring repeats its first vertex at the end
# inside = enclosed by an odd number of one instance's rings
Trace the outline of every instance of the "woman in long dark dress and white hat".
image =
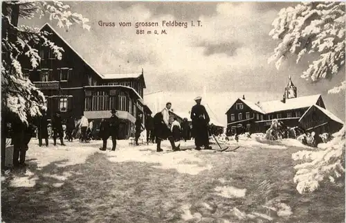
{"type": "Polygon", "coordinates": [[[201,97],[194,98],[196,105],[191,109],[192,128],[194,132],[194,144],[196,150],[201,150],[201,146],[204,149],[210,149],[209,135],[208,135],[208,123],[210,121],[206,107],[201,105],[201,97]]]}

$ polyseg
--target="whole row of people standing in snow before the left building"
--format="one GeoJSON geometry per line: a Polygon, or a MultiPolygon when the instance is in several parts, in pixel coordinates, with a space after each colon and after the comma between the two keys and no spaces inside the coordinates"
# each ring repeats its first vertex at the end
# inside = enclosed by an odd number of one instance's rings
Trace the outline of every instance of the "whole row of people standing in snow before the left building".
{"type": "MultiPolygon", "coordinates": [[[[210,118],[206,111],[206,108],[201,105],[201,97],[195,98],[196,105],[191,109],[190,118],[192,120],[192,129],[194,130],[194,142],[196,150],[201,150],[203,146],[206,149],[210,148],[209,145],[209,133],[208,123],[210,118]]],[[[180,124],[176,118],[170,123],[170,109],[172,107],[171,102],[167,102],[165,108],[155,114],[154,118],[147,115],[145,118],[145,125],[142,124],[143,114],[139,113],[135,122],[135,142],[138,144],[140,133],[143,130],[147,130],[147,143],[156,143],[156,151],[162,152],[161,142],[163,140],[170,141],[172,150],[180,150],[180,144],[175,145],[176,141],[181,140],[181,136],[186,141],[190,137],[190,126],[187,118],[184,119],[183,123],[180,124]]],[[[43,145],[44,139],[45,145],[48,147],[48,118],[46,116],[46,110],[42,109],[42,116],[37,118],[28,118],[28,125],[21,121],[12,122],[12,145],[14,147],[13,153],[13,164],[14,166],[25,166],[26,151],[28,150],[28,143],[35,132],[35,126],[37,128],[37,139],[39,140],[39,146],[43,145]]],[[[99,136],[102,139],[102,147],[100,150],[107,149],[107,140],[111,137],[112,140],[112,151],[116,150],[116,139],[118,138],[120,121],[117,116],[116,109],[111,110],[111,118],[102,119],[100,125],[99,136]]],[[[63,121],[60,111],[55,112],[51,127],[53,130],[53,143],[57,145],[57,139],[60,139],[61,145],[64,143],[64,128],[63,121]]],[[[75,122],[75,118],[70,116],[66,119],[66,139],[67,141],[73,141],[73,132],[76,127],[80,129],[82,142],[86,141],[87,130],[89,130],[90,123],[85,116],[80,118],[79,122],[75,122]]]]}

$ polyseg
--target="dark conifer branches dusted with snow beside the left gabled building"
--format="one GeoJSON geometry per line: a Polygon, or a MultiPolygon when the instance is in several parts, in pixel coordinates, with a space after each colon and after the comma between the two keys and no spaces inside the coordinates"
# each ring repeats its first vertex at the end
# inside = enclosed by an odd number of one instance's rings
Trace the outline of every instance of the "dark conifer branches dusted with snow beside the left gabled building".
{"type": "Polygon", "coordinates": [[[29,62],[32,69],[40,63],[35,45],[51,48],[57,60],[62,59],[63,48],[49,40],[49,33],[39,28],[18,26],[19,18],[42,18],[49,15],[57,26],[69,28],[76,22],[89,30],[89,21],[82,15],[71,12],[70,6],[61,1],[3,1],[1,39],[1,119],[6,116],[20,118],[27,123],[28,116],[41,115],[44,95],[23,72],[22,64],[29,62]]]}

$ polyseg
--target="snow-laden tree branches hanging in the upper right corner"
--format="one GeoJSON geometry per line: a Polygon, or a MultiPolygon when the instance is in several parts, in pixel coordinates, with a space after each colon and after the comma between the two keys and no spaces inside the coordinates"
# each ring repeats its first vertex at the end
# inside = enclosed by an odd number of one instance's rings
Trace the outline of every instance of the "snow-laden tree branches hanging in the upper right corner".
{"type": "MultiPolygon", "coordinates": [[[[316,58],[301,75],[313,82],[331,78],[342,72],[345,66],[345,2],[304,2],[283,8],[273,21],[269,33],[280,40],[268,62],[275,62],[279,69],[289,55],[300,62],[304,55],[316,58]]],[[[346,81],[329,90],[338,93],[345,90],[346,81]]]]}

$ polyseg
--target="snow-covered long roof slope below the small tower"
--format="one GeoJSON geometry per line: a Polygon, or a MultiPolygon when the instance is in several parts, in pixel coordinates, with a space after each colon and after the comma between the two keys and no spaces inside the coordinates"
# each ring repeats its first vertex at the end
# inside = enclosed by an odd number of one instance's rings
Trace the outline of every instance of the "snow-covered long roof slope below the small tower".
{"type": "Polygon", "coordinates": [[[260,102],[258,106],[263,111],[265,111],[265,113],[272,113],[275,111],[285,111],[291,109],[300,109],[304,107],[310,107],[311,105],[315,105],[320,96],[320,94],[316,94],[313,96],[302,96],[299,98],[286,99],[286,102],[282,102],[281,100],[271,100],[266,102],[260,102]]]}

